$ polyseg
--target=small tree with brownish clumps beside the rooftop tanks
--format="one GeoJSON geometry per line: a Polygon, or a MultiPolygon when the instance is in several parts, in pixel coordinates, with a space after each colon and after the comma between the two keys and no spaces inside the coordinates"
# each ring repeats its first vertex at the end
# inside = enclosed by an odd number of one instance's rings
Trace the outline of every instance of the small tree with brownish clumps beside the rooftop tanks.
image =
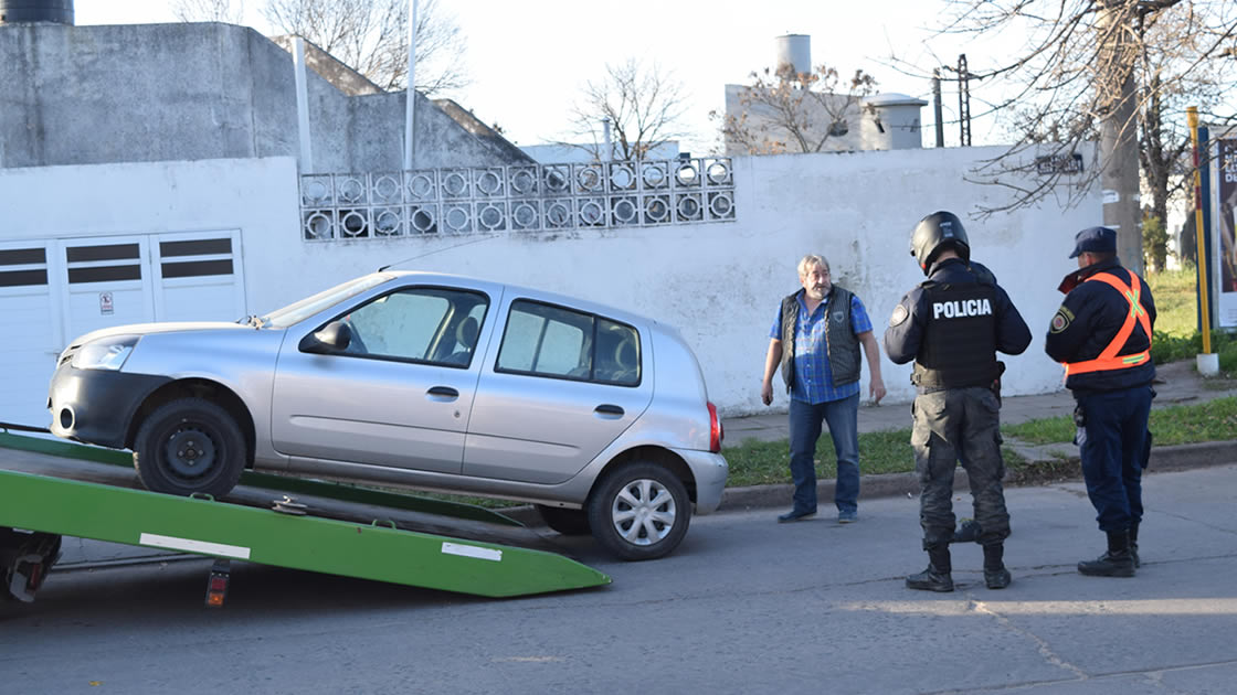
{"type": "Polygon", "coordinates": [[[748,155],[820,152],[830,139],[845,136],[861,116],[860,104],[876,90],[876,79],[855,70],[849,79],[829,66],[798,73],[783,63],[751,73],[740,88],[737,114],[713,111],[721,119],[726,151],[748,155]]]}

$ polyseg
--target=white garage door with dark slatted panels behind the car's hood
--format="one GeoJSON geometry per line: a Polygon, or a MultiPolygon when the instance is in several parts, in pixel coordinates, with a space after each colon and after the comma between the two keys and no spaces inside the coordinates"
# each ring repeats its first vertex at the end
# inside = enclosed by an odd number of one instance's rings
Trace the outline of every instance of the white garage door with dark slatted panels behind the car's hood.
{"type": "Polygon", "coordinates": [[[0,245],[0,346],[11,388],[0,422],[46,427],[56,355],[92,330],[246,314],[240,232],[57,239],[0,245]]]}

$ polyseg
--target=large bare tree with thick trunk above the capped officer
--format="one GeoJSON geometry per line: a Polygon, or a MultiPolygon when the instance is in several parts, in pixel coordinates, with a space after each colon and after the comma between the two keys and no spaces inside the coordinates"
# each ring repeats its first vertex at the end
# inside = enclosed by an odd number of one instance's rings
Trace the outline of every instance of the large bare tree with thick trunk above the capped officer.
{"type": "MultiPolygon", "coordinates": [[[[1122,230],[1122,257],[1141,267],[1139,166],[1153,215],[1164,220],[1171,185],[1189,146],[1184,108],[1194,101],[1213,120],[1231,121],[1222,104],[1235,83],[1237,4],[1232,0],[946,0],[943,33],[1025,36],[1016,58],[974,73],[987,84],[1014,85],[993,104],[1016,110],[1017,142],[986,162],[981,178],[1011,190],[981,213],[1033,205],[1045,195],[1077,203],[1100,182],[1105,223],[1122,230]],[[1071,162],[1098,135],[1084,173],[1071,162]],[[1049,137],[1051,136],[1051,141],[1049,137]],[[1045,166],[1047,164],[1047,166],[1045,166]],[[1009,176],[1017,174],[1017,176],[1009,176]],[[1133,230],[1134,234],[1124,234],[1133,230]]],[[[987,88],[992,89],[992,88],[987,88]]]]}

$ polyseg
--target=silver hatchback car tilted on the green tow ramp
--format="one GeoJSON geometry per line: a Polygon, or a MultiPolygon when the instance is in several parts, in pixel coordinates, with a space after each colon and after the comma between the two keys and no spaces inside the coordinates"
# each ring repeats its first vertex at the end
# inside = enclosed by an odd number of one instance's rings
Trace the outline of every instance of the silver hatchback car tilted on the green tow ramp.
{"type": "Polygon", "coordinates": [[[481,279],[379,272],[265,317],[98,330],[59,356],[58,437],[132,449],[156,492],[242,470],[536,503],[662,556],[721,501],[721,424],[678,331],[481,279]]]}

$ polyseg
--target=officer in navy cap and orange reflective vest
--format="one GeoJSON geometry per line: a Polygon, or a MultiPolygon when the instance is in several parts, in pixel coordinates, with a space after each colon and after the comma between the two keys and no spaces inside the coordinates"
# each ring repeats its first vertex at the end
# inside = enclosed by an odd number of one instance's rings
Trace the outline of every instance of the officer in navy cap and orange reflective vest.
{"type": "Polygon", "coordinates": [[[1147,281],[1117,260],[1116,231],[1084,229],[1070,257],[1080,270],[1061,281],[1065,302],[1053,315],[1044,350],[1065,365],[1065,387],[1077,402],[1074,422],[1087,497],[1108,535],[1108,550],[1079,563],[1079,571],[1134,576],[1150,446],[1155,302],[1147,281]]]}

